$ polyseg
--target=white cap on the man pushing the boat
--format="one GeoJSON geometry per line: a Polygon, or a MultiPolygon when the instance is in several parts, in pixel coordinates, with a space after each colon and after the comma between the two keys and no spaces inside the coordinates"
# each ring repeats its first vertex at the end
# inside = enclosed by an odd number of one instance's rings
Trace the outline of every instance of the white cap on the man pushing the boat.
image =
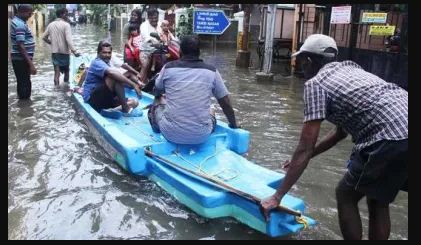
{"type": "Polygon", "coordinates": [[[302,52],[309,52],[313,54],[323,55],[326,57],[333,57],[333,53],[325,52],[327,48],[334,48],[338,52],[335,40],[323,34],[313,34],[307,37],[298,52],[295,52],[291,57],[295,57],[302,52]]]}

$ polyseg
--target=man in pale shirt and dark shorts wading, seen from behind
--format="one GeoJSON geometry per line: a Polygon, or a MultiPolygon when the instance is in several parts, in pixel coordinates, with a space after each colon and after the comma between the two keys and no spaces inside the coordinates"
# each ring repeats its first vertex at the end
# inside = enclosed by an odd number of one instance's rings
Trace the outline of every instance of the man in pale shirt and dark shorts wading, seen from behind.
{"type": "Polygon", "coordinates": [[[72,31],[67,18],[67,9],[56,11],[57,19],[48,24],[42,40],[51,45],[51,58],[54,65],[54,85],[60,83],[60,72],[64,73],[64,82],[69,82],[70,51],[78,57],[80,54],[73,47],[72,31]]]}

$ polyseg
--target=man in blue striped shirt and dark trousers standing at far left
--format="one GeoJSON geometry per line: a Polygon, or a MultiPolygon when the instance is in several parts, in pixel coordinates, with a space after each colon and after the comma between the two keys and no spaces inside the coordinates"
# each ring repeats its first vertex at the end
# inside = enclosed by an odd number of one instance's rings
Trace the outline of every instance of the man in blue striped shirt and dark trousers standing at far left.
{"type": "Polygon", "coordinates": [[[13,17],[10,37],[12,42],[11,60],[17,82],[19,99],[31,97],[31,75],[37,73],[32,61],[35,51],[34,37],[26,21],[32,16],[33,9],[30,4],[20,4],[17,15],[13,17]]]}

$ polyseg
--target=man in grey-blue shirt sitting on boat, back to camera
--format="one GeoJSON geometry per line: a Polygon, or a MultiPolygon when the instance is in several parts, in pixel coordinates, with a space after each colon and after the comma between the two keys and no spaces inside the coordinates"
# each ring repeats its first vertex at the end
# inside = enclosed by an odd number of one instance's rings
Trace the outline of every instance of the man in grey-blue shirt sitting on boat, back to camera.
{"type": "Polygon", "coordinates": [[[203,143],[215,130],[213,95],[226,115],[229,126],[238,128],[228,90],[218,70],[199,59],[199,39],[185,36],[181,40],[181,59],[167,63],[155,83],[158,96],[148,111],[155,132],[176,144],[203,143]]]}

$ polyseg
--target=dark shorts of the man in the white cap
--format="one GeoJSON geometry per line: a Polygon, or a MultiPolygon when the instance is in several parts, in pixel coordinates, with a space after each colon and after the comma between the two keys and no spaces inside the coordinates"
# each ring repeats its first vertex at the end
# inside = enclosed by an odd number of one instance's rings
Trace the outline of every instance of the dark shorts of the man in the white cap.
{"type": "Polygon", "coordinates": [[[371,199],[391,203],[399,190],[408,191],[408,140],[382,140],[349,160],[338,189],[354,190],[371,199]]]}

